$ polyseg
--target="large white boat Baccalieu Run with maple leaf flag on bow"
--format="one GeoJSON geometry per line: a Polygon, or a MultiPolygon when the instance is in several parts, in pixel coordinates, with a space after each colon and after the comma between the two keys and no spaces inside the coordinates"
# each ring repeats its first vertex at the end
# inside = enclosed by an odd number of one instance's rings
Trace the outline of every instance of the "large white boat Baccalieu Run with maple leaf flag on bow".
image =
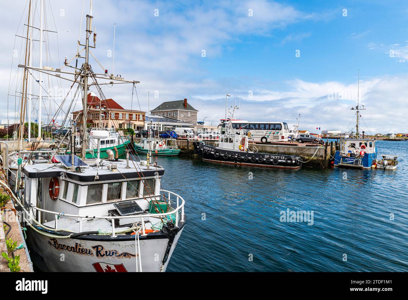
{"type": "MultiPolygon", "coordinates": [[[[42,7],[44,0],[40,1],[42,7]]],[[[106,146],[106,141],[111,141],[110,131],[87,131],[86,96],[91,84],[106,99],[100,89],[102,80],[110,85],[130,83],[133,87],[139,83],[109,75],[107,70],[102,74],[92,71],[89,48],[96,47],[96,33],[92,27],[92,1],[90,4],[86,41],[84,44],[78,41],[84,48],[78,49],[73,58],[77,58],[75,65],[71,65],[73,59],[64,62],[64,67],[72,68],[72,72],[19,65],[25,71],[46,72],[74,82],[77,89],[72,101],[82,94],[83,113],[68,120],[71,130],[51,149],[49,159],[32,163],[30,155],[24,164],[19,163],[24,173],[22,184],[13,186],[7,178],[0,180],[0,185],[22,214],[27,247],[38,270],[165,271],[186,223],[185,202],[182,196],[162,189],[164,168],[151,163],[151,150],[147,161],[129,159],[130,149],[126,149],[126,159],[120,159],[119,151],[102,147],[102,142],[106,146]],[[78,58],[85,58],[80,67],[78,58]],[[73,76],[73,80],[66,76],[73,76]],[[64,143],[65,140],[68,142],[64,143]],[[90,144],[95,144],[96,158],[95,152],[92,158],[87,158],[90,144]],[[107,158],[102,159],[105,155],[107,158]]],[[[68,112],[66,118],[69,115],[68,112]]],[[[8,168],[8,160],[3,163],[8,168]]]]}

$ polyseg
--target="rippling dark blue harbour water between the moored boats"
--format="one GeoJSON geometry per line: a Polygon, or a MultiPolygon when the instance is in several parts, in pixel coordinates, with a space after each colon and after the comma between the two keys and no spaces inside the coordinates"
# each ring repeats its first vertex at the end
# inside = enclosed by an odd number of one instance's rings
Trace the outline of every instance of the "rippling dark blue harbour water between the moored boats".
{"type": "Polygon", "coordinates": [[[153,157],[166,169],[163,187],[186,200],[167,271],[408,271],[408,142],[377,149],[399,155],[395,171],[153,157]],[[313,224],[281,222],[287,209],[313,211],[313,224]]]}

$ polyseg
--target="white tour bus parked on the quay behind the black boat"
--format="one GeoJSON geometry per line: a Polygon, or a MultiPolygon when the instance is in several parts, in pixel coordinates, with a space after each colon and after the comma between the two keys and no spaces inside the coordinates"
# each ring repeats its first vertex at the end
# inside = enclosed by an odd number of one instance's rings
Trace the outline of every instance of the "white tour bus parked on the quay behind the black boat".
{"type": "MultiPolygon", "coordinates": [[[[223,122],[223,120],[221,120],[223,122]]],[[[250,133],[248,141],[253,142],[287,142],[289,127],[285,122],[248,122],[243,120],[232,120],[232,126],[235,129],[245,129],[250,133]]],[[[225,131],[225,124],[222,124],[221,134],[225,131]]]]}

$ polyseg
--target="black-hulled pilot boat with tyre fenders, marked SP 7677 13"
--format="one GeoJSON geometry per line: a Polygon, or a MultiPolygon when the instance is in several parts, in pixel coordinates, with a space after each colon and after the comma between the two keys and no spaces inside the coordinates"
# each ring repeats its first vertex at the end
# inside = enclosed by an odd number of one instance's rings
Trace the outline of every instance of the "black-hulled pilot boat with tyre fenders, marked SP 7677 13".
{"type": "Polygon", "coordinates": [[[222,123],[220,142],[194,143],[195,150],[201,155],[202,160],[256,167],[300,168],[302,160],[298,155],[262,153],[255,146],[248,146],[248,138],[251,138],[251,133],[242,127],[233,128],[232,119],[235,108],[232,113],[230,111],[229,118],[226,118],[227,122],[222,123]]]}

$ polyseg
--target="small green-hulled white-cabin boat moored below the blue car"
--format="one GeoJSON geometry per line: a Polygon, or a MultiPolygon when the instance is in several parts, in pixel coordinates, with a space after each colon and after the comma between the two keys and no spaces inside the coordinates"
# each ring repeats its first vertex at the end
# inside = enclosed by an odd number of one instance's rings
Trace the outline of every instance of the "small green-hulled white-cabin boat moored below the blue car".
{"type": "Polygon", "coordinates": [[[181,149],[177,145],[171,145],[173,140],[167,138],[141,138],[139,142],[135,142],[135,151],[142,154],[151,151],[152,155],[157,156],[177,156],[181,149]]]}

